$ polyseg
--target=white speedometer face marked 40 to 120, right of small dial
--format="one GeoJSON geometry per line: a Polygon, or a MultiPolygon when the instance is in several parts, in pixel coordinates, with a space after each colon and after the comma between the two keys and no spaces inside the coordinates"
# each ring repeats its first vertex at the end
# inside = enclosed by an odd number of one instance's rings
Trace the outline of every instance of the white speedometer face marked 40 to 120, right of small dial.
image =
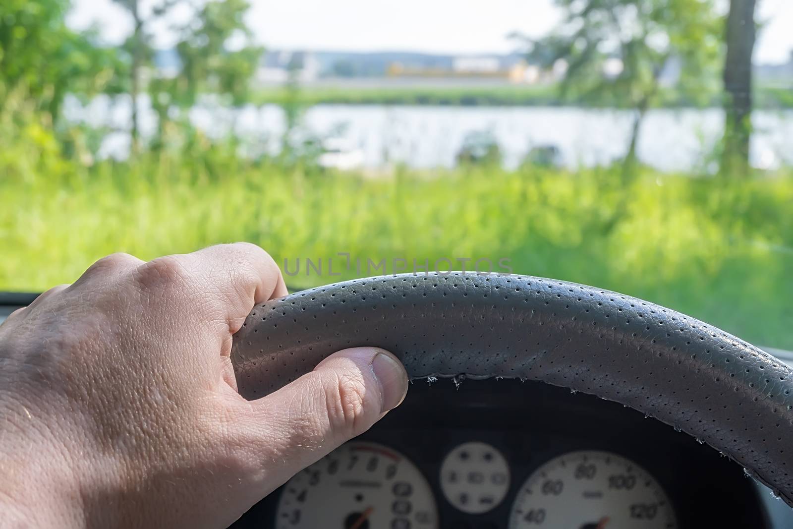
{"type": "Polygon", "coordinates": [[[672,505],[661,485],[629,459],[581,451],[552,459],[518,491],[511,529],[672,529],[672,505]]]}

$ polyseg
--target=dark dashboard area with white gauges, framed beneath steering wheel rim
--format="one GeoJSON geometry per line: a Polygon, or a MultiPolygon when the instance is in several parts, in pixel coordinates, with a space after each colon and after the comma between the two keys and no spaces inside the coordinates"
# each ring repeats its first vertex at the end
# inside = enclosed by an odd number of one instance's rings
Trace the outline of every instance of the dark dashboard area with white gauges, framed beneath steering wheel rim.
{"type": "Polygon", "coordinates": [[[414,381],[399,408],[233,527],[793,527],[766,491],[621,404],[533,381],[443,379],[414,381]]]}

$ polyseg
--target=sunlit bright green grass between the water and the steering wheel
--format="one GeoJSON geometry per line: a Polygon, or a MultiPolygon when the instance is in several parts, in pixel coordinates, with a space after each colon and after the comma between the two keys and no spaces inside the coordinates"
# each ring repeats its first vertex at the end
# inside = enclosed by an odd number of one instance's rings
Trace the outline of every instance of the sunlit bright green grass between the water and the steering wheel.
{"type": "MultiPolygon", "coordinates": [[[[73,282],[113,251],[151,259],[236,240],[278,263],[342,251],[505,257],[515,273],[615,289],[793,349],[790,172],[722,181],[645,169],[626,186],[619,168],[372,177],[287,170],[200,137],[123,163],[90,164],[79,136],[71,143],[66,158],[45,125],[0,113],[0,289],[73,282]]],[[[325,271],[289,282],[357,275],[325,271]]]]}

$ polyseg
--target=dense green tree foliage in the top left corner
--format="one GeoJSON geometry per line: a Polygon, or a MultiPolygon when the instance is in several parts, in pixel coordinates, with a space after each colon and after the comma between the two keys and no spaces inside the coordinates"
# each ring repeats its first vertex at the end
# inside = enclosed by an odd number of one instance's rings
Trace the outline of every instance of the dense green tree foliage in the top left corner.
{"type": "Polygon", "coordinates": [[[68,7],[66,0],[0,2],[0,82],[24,90],[53,123],[67,93],[125,89],[115,75],[125,67],[116,51],[96,45],[93,33],[68,29],[68,7]]]}

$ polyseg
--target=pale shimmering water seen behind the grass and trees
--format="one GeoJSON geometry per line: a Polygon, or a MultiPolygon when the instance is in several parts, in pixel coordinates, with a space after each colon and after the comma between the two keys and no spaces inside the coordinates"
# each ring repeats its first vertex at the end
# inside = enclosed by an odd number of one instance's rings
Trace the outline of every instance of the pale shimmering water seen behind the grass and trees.
{"type": "MultiPolygon", "coordinates": [[[[67,117],[91,125],[128,129],[129,102],[96,98],[89,105],[69,99],[67,117]]],[[[140,99],[140,128],[155,130],[156,118],[147,98],[140,99]]],[[[302,125],[317,136],[339,136],[362,151],[367,167],[406,163],[411,167],[451,167],[466,135],[488,131],[500,144],[504,165],[515,167],[535,146],[555,145],[569,167],[609,163],[622,157],[630,140],[634,114],[627,110],[573,107],[449,107],[387,105],[316,105],[302,125]]],[[[285,128],[277,105],[230,109],[211,102],[190,110],[190,120],[209,136],[232,130],[254,148],[275,152],[285,128]]],[[[638,155],[664,171],[707,167],[708,155],[722,135],[720,109],[655,109],[644,124],[638,155]]],[[[793,164],[793,111],[756,111],[752,162],[776,168],[793,164]]],[[[123,157],[128,134],[111,132],[101,154],[123,157]]]]}

